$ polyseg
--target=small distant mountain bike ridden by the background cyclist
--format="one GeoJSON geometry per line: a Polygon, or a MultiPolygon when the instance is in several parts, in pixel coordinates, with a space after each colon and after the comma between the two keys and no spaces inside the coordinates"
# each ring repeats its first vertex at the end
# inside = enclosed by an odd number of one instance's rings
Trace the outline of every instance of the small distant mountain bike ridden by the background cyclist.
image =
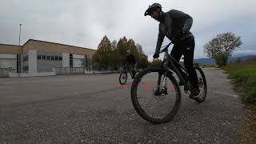
{"type": "Polygon", "coordinates": [[[124,66],[123,70],[121,71],[121,74],[119,75],[119,82],[121,85],[126,84],[127,79],[128,79],[128,73],[130,74],[130,77],[133,79],[135,75],[133,75],[132,70],[135,70],[137,73],[139,71],[138,66],[124,66]]]}

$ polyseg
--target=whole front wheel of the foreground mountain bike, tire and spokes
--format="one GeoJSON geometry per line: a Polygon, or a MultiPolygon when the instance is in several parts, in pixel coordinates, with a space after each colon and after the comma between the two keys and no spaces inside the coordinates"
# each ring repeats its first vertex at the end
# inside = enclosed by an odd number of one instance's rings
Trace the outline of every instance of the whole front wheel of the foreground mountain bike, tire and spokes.
{"type": "Polygon", "coordinates": [[[142,70],[132,83],[131,99],[134,109],[148,122],[170,122],[181,104],[178,82],[170,72],[166,76],[166,92],[156,93],[159,90],[158,79],[160,79],[160,89],[164,90],[162,86],[164,73],[165,70],[158,67],[148,68],[142,70]]]}

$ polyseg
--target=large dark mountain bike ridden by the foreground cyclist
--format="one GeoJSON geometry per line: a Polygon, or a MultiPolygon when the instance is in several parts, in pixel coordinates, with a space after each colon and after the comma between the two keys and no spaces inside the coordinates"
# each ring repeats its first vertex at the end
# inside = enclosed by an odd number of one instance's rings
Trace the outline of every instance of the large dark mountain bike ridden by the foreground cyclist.
{"type": "MultiPolygon", "coordinates": [[[[160,53],[165,53],[162,66],[148,67],[136,75],[132,82],[130,94],[134,109],[149,122],[170,122],[181,105],[182,94],[177,78],[184,82],[184,92],[190,94],[192,82],[185,66],[177,62],[170,54],[168,47],[162,46],[160,53]],[[179,66],[186,76],[178,71],[179,66]]],[[[199,66],[194,66],[198,74],[200,94],[193,98],[196,102],[204,102],[207,94],[206,77],[199,66]]]]}

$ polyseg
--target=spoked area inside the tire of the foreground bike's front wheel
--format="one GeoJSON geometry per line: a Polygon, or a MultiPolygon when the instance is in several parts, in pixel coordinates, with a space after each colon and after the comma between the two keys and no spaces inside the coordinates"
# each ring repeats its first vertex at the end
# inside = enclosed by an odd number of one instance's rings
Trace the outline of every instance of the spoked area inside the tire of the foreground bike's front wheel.
{"type": "MultiPolygon", "coordinates": [[[[160,82],[161,88],[162,80],[163,77],[161,78],[160,82]]],[[[166,87],[170,88],[170,90],[167,89],[167,94],[159,96],[154,95],[155,90],[157,90],[156,87],[158,87],[158,74],[150,74],[147,75],[147,77],[144,76],[144,78],[141,81],[143,85],[138,86],[138,102],[141,105],[142,109],[145,111],[145,113],[150,115],[150,117],[164,118],[166,117],[166,114],[169,114],[174,107],[174,104],[172,103],[175,102],[176,96],[174,97],[172,95],[175,93],[175,89],[173,83],[168,78],[166,80],[166,87]]]]}

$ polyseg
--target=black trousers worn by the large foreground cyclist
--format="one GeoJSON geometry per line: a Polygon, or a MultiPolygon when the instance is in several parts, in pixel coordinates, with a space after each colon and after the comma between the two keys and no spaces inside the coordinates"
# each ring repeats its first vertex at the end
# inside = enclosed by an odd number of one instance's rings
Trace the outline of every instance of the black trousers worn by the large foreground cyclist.
{"type": "MultiPolygon", "coordinates": [[[[189,73],[190,82],[194,87],[198,86],[198,75],[194,70],[194,38],[188,38],[186,40],[177,42],[174,44],[173,50],[171,50],[170,55],[174,57],[176,61],[182,58],[184,55],[184,66],[189,73]]],[[[177,66],[178,67],[178,66],[177,66]]],[[[178,67],[178,71],[185,76],[185,73],[178,67]]]]}

